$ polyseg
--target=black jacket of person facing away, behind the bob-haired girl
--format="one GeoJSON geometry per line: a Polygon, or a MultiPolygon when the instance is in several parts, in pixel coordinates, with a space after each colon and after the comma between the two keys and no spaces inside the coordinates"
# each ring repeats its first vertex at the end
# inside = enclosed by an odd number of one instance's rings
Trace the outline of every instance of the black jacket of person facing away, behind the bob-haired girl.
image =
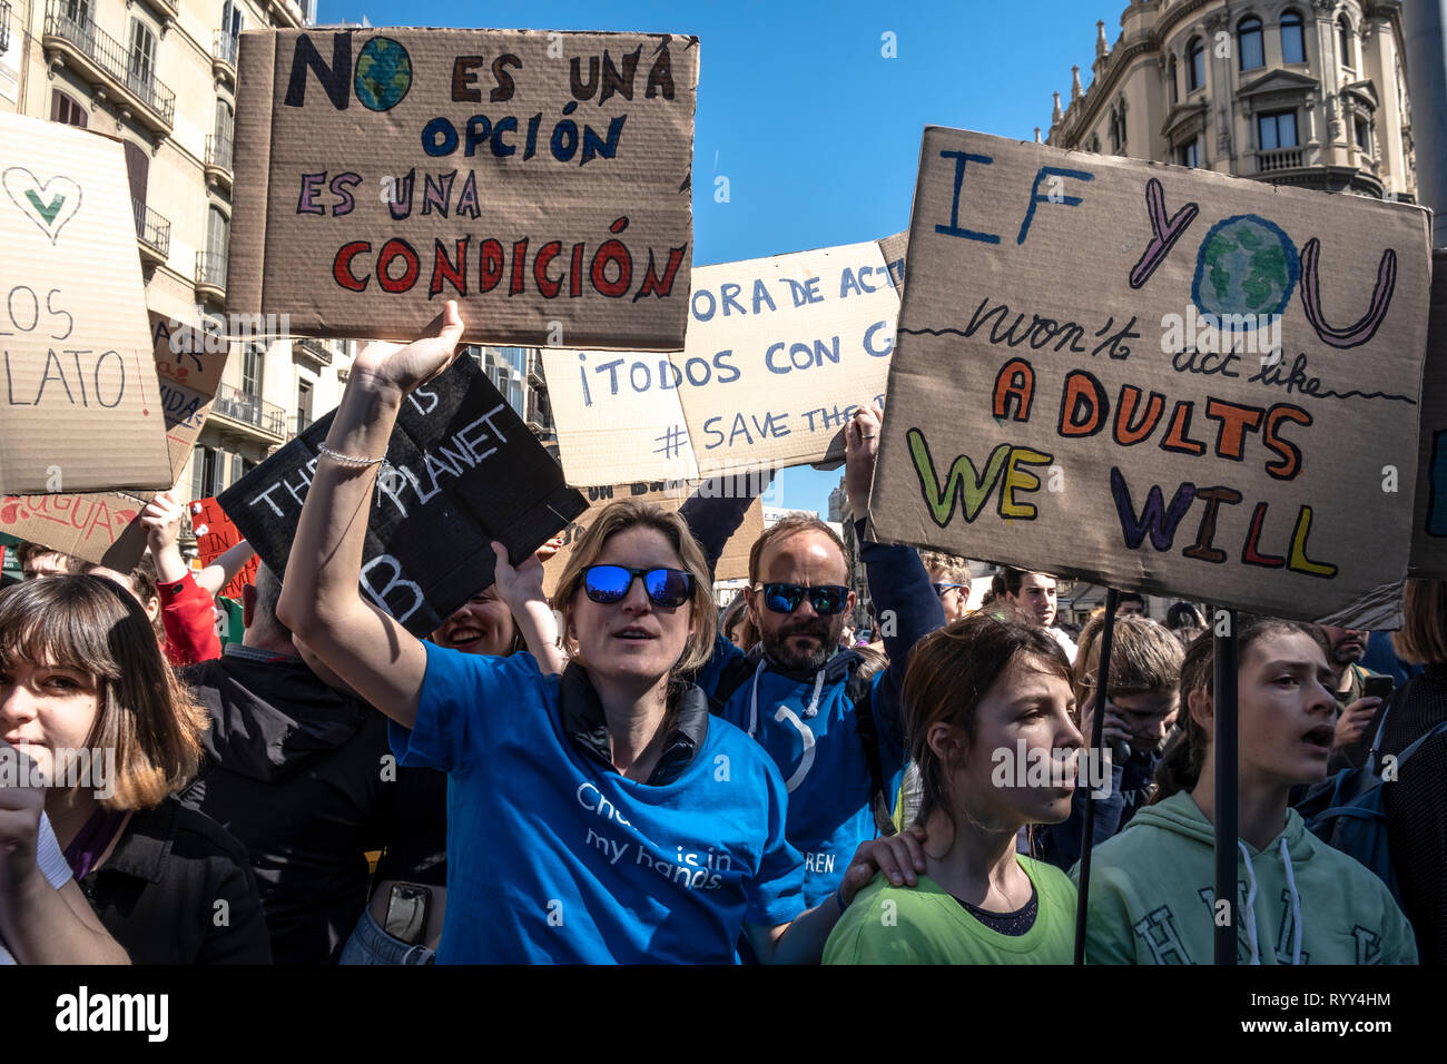
{"type": "MultiPolygon", "coordinates": [[[[253,654],[227,647],[184,670],[211,728],[181,799],[250,851],[276,963],[326,964],[366,905],[366,853],[386,843],[396,780],[424,770],[398,770],[382,714],[300,659],[253,654]]],[[[446,850],[444,805],[405,819],[446,850]]]]}

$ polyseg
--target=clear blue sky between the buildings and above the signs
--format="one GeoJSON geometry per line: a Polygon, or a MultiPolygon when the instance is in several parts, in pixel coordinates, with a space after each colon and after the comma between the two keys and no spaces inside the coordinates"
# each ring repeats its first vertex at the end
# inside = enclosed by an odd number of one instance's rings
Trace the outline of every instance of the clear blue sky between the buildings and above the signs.
{"type": "MultiPolygon", "coordinates": [[[[870,240],[909,227],[926,124],[1030,139],[1090,84],[1095,20],[1126,0],[861,3],[321,0],[320,20],[693,33],[693,262],[870,240]],[[884,35],[896,58],[884,58],[884,35]],[[729,201],[715,203],[715,178],[729,201]]],[[[786,470],[774,505],[823,511],[839,472],[786,470]]]]}

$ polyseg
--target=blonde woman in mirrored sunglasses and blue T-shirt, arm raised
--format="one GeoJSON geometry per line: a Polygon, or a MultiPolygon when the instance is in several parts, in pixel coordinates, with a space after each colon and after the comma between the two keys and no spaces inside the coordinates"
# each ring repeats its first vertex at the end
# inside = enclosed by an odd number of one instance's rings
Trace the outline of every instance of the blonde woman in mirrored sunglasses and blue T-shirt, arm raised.
{"type": "MultiPolygon", "coordinates": [[[[392,718],[401,763],[449,774],[438,960],[731,963],[745,929],[761,960],[818,960],[870,856],[888,845],[861,847],[839,895],[800,913],[778,769],[680,679],[708,660],[718,622],[682,518],[615,502],[574,546],[554,592],[573,657],[561,676],[531,654],[424,644],[360,598],[357,514],[376,456],[462,332],[449,301],[425,339],[357,356],[281,598],[282,621],[392,718]]],[[[514,569],[493,550],[498,592],[530,646],[544,646],[541,565],[514,569]]]]}

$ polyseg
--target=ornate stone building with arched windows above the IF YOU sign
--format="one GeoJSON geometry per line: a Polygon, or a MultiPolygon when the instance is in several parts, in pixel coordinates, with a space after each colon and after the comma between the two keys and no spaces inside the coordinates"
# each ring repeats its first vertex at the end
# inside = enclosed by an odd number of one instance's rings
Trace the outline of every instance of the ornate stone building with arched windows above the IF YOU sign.
{"type": "Polygon", "coordinates": [[[1134,0],[1120,28],[1046,143],[1415,201],[1401,0],[1134,0]]]}

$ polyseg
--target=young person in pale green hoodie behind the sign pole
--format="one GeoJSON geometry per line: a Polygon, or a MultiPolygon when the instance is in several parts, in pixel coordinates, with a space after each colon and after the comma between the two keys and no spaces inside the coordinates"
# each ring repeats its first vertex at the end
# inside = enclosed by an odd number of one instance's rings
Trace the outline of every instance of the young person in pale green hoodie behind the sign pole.
{"type": "MultiPolygon", "coordinates": [[[[1336,699],[1311,625],[1239,618],[1237,958],[1243,964],[1414,964],[1412,929],[1366,867],[1307,831],[1288,795],[1327,774],[1336,699]]],[[[1213,646],[1181,666],[1181,731],[1159,789],[1094,851],[1085,953],[1094,964],[1201,964],[1217,909],[1213,646]]],[[[1079,866],[1072,871],[1079,876],[1079,866]]]]}

